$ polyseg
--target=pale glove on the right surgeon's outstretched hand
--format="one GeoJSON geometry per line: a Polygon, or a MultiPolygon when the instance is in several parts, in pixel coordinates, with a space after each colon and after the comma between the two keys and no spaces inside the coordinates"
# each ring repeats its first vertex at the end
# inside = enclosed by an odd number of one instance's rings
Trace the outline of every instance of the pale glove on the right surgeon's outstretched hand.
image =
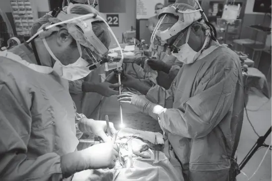
{"type": "Polygon", "coordinates": [[[158,120],[159,114],[165,110],[163,107],[151,103],[144,97],[140,97],[139,95],[131,92],[123,92],[117,98],[121,103],[134,105],[141,112],[148,114],[156,120],[158,120]]]}

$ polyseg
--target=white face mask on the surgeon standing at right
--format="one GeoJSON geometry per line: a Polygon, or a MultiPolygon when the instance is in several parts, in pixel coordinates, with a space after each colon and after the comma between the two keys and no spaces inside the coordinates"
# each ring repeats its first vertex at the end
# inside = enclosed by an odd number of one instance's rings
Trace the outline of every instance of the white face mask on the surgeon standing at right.
{"type": "Polygon", "coordinates": [[[171,54],[174,57],[176,57],[179,61],[181,61],[181,62],[183,62],[185,64],[193,63],[194,61],[196,61],[199,58],[199,56],[201,55],[202,50],[204,49],[204,47],[207,44],[208,37],[209,37],[208,35],[206,36],[202,49],[199,52],[196,52],[188,44],[190,31],[191,31],[191,26],[188,29],[185,44],[182,45],[181,47],[179,47],[180,51],[178,53],[171,52],[171,54]]]}

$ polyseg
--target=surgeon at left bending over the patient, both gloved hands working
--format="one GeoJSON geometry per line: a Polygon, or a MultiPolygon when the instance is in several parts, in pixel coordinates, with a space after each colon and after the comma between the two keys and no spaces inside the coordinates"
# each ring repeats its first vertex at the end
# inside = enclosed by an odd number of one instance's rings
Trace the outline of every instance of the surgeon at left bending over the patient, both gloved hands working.
{"type": "MultiPolygon", "coordinates": [[[[27,43],[0,52],[1,181],[71,180],[76,172],[115,165],[118,148],[105,134],[106,121],[75,113],[67,81],[98,63],[112,31],[88,7],[75,8],[84,16],[73,8],[49,19],[27,43]],[[99,26],[109,28],[100,38],[99,26]],[[83,132],[105,143],[76,151],[83,132]]],[[[116,132],[112,123],[110,129],[116,132]]]]}

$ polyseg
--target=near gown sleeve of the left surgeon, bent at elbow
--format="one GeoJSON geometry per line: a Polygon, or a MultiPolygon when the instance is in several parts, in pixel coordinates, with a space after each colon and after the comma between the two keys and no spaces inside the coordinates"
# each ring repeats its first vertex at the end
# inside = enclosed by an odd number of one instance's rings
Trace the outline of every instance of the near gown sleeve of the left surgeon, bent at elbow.
{"type": "Polygon", "coordinates": [[[28,98],[31,100],[30,95],[24,95],[18,100],[10,85],[0,82],[0,180],[61,181],[63,175],[58,154],[27,157],[32,123],[26,103],[28,98]]]}

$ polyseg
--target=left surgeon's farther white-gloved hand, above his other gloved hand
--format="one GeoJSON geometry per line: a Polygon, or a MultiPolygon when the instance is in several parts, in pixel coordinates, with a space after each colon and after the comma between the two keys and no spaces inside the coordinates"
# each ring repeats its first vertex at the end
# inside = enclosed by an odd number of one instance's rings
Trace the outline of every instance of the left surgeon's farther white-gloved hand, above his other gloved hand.
{"type": "MultiPolygon", "coordinates": [[[[111,133],[116,133],[116,129],[112,122],[109,122],[111,133]]],[[[106,121],[96,121],[92,119],[82,118],[78,122],[78,128],[82,132],[92,132],[95,135],[100,136],[104,142],[110,142],[111,137],[107,136],[105,131],[107,130],[107,122],[106,121]]]]}

